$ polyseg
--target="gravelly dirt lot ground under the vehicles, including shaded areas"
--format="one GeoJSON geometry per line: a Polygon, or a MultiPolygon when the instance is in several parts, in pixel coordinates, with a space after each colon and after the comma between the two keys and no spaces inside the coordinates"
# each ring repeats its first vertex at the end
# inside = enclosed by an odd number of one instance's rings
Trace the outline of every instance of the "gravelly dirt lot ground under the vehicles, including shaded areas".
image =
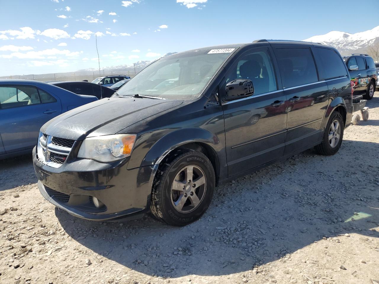
{"type": "Polygon", "coordinates": [[[184,228],[95,223],[39,193],[29,156],[0,161],[0,283],[379,282],[379,93],[342,148],[308,150],[216,189],[184,228]]]}

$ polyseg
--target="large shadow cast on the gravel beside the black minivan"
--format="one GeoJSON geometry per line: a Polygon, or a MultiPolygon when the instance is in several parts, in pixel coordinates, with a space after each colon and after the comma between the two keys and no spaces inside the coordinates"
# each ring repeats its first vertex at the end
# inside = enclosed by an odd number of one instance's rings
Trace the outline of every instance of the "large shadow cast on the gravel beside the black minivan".
{"type": "Polygon", "coordinates": [[[307,150],[221,185],[204,216],[183,228],[152,217],[96,223],[55,213],[73,239],[146,275],[245,272],[323,237],[379,237],[370,230],[379,226],[378,147],[345,140],[335,156],[307,150]]]}

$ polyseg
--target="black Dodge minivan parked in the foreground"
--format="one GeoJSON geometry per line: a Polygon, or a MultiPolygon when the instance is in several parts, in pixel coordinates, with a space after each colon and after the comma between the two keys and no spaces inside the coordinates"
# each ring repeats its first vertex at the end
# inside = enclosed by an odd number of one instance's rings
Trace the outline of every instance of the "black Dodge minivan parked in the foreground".
{"type": "Polygon", "coordinates": [[[183,226],[222,182],[311,147],[337,153],[351,117],[349,73],[334,48],[268,40],[199,48],[47,122],[34,169],[44,198],[77,217],[150,211],[183,226]]]}

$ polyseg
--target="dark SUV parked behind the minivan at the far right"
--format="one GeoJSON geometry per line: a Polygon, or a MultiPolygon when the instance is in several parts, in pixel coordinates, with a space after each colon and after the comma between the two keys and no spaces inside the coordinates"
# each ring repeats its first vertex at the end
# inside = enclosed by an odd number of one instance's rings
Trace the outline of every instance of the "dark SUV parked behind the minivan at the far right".
{"type": "Polygon", "coordinates": [[[355,53],[344,59],[349,69],[354,95],[363,93],[365,100],[371,100],[374,96],[378,74],[374,60],[367,54],[355,53]]]}

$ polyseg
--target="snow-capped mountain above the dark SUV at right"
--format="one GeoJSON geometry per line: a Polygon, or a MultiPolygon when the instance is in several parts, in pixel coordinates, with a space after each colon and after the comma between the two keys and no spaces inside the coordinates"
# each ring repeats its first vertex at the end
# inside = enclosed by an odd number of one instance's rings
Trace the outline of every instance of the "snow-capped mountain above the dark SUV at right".
{"type": "Polygon", "coordinates": [[[348,55],[352,51],[364,52],[367,47],[379,43],[379,26],[372,30],[360,33],[346,33],[343,31],[330,31],[327,34],[312,36],[304,41],[320,42],[337,48],[342,55],[348,55]]]}

